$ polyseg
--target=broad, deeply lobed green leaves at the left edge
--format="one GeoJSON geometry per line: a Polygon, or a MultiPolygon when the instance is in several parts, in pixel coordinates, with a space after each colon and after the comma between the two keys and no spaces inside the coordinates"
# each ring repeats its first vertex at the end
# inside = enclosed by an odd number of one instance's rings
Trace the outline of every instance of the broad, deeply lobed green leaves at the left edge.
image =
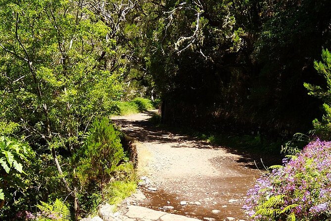
{"type": "Polygon", "coordinates": [[[34,156],[35,153],[26,143],[0,137],[0,209],[4,200],[11,197],[9,188],[25,188],[24,176],[34,156]]]}

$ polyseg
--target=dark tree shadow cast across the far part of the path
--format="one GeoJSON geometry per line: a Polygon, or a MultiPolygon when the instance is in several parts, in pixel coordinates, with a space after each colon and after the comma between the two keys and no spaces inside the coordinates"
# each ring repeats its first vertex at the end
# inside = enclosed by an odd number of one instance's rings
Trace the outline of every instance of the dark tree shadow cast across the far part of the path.
{"type": "Polygon", "coordinates": [[[128,136],[133,137],[140,142],[177,143],[176,145],[172,145],[174,148],[191,147],[191,143],[188,144],[187,142],[193,142],[196,144],[194,148],[223,149],[227,153],[239,155],[240,158],[236,159],[236,162],[253,169],[256,169],[257,167],[259,169],[265,169],[265,167],[282,164],[283,156],[280,153],[270,154],[248,148],[220,146],[208,141],[199,140],[179,129],[154,126],[148,121],[148,118],[155,112],[157,112],[157,110],[141,113],[142,116],[144,116],[143,119],[132,117],[135,114],[131,115],[131,117],[116,116],[112,117],[112,122],[119,126],[122,131],[125,131],[128,136]]]}

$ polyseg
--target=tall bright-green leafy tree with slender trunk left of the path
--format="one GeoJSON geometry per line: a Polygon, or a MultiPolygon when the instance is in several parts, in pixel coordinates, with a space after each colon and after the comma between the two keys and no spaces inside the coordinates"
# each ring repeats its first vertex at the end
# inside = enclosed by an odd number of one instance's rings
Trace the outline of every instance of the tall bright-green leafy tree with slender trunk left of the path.
{"type": "Polygon", "coordinates": [[[57,150],[72,154],[93,118],[109,114],[121,96],[121,69],[99,68],[103,52],[115,53],[110,31],[83,1],[0,4],[0,120],[18,123],[25,140],[50,150],[76,216],[76,189],[57,150]]]}

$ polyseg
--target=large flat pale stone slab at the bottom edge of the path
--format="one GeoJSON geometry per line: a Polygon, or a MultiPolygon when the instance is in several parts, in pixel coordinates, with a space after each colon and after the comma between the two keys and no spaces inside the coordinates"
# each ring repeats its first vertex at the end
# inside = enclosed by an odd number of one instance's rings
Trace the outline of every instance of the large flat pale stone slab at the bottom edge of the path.
{"type": "Polygon", "coordinates": [[[139,206],[128,206],[128,212],[126,214],[129,218],[150,220],[160,219],[163,215],[166,215],[166,213],[139,206]]]}

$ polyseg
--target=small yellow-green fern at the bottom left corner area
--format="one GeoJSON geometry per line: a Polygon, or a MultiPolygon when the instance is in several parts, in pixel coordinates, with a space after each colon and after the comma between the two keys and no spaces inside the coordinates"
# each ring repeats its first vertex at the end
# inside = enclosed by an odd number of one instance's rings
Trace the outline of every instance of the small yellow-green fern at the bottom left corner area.
{"type": "Polygon", "coordinates": [[[56,199],[53,205],[45,202],[40,202],[41,205],[37,205],[44,216],[51,221],[71,221],[71,214],[68,207],[59,199],[56,199]]]}

